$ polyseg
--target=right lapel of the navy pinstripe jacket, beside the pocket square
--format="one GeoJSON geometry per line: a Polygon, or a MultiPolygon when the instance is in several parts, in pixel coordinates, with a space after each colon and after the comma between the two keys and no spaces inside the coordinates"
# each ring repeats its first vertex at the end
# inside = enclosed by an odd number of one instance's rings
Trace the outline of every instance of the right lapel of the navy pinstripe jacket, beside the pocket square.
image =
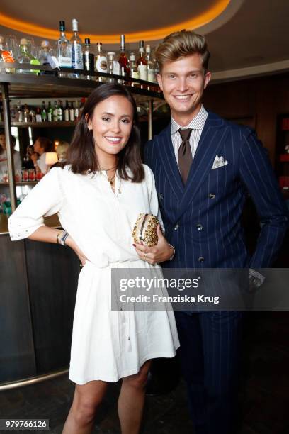
{"type": "Polygon", "coordinates": [[[193,201],[193,198],[199,191],[200,185],[205,177],[208,177],[215,156],[218,154],[219,149],[224,145],[227,130],[228,128],[225,126],[222,118],[219,118],[212,113],[208,114],[203,132],[200,136],[196,155],[188,174],[188,181],[186,182],[184,194],[179,204],[176,221],[179,220],[181,215],[191,204],[191,201],[193,201]]]}

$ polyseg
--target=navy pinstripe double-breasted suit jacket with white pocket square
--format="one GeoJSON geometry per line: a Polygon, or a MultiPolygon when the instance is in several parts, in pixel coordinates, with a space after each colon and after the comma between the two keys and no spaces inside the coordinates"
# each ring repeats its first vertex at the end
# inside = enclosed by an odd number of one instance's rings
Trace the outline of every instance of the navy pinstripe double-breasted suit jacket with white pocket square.
{"type": "Polygon", "coordinates": [[[166,238],[176,247],[165,267],[269,267],[288,226],[288,212],[266,149],[251,128],[209,113],[186,186],[171,143],[171,125],[145,145],[154,172],[166,238]],[[216,155],[227,165],[212,169],[216,155]],[[261,219],[252,257],[241,215],[251,194],[261,219]]]}

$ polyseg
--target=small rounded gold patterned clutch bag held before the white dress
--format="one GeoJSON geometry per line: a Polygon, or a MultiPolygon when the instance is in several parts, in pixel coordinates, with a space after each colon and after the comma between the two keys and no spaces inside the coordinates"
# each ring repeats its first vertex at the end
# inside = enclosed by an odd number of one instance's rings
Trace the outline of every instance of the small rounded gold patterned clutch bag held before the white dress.
{"type": "Polygon", "coordinates": [[[157,225],[159,220],[152,214],[140,214],[132,230],[135,243],[143,243],[147,247],[157,245],[157,225]]]}

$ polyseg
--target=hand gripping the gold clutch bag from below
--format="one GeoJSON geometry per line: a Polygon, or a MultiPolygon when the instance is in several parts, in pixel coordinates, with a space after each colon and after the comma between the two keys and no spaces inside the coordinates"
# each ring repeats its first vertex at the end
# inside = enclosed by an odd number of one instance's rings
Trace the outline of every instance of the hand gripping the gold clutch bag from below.
{"type": "Polygon", "coordinates": [[[174,249],[169,245],[162,234],[160,225],[157,226],[157,236],[159,238],[157,245],[154,247],[147,247],[143,244],[134,244],[135,251],[139,255],[140,259],[149,262],[149,264],[157,264],[158,262],[164,262],[174,254],[174,249]]]}

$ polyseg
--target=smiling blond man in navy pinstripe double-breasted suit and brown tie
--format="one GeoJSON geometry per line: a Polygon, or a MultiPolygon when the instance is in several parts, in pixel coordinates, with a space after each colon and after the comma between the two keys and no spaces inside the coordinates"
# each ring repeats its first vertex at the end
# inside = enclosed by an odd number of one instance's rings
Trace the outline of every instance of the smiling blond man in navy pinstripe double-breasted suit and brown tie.
{"type": "MultiPolygon", "coordinates": [[[[154,172],[166,238],[176,249],[164,267],[269,267],[288,226],[282,196],[253,130],[237,126],[202,105],[210,81],[210,54],[203,36],[182,30],[156,52],[159,85],[171,108],[171,123],[147,143],[145,162],[154,172]],[[250,257],[241,215],[249,192],[261,219],[250,257]]],[[[160,234],[159,234],[160,235],[160,234]]],[[[169,257],[137,245],[149,262],[169,257]]],[[[198,434],[233,433],[241,313],[176,312],[181,365],[198,434]]]]}

